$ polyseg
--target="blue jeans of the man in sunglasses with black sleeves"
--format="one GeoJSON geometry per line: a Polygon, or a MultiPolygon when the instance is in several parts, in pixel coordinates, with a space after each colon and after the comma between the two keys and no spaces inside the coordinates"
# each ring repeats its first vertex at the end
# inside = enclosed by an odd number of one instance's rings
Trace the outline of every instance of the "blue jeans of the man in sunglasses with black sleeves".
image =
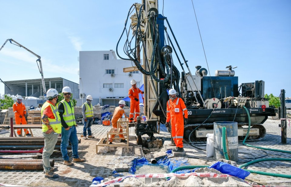
{"type": "Polygon", "coordinates": [[[65,130],[62,127],[62,142],[61,142],[61,152],[64,160],[69,160],[67,147],[69,146],[69,140],[72,143],[73,158],[79,158],[78,155],[78,137],[75,125],[73,125],[69,130],[65,130]]]}

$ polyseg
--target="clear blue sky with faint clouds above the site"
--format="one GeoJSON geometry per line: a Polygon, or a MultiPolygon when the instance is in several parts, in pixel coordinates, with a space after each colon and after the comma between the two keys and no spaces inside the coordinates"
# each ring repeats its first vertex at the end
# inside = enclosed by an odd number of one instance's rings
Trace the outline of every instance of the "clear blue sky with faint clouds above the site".
{"type": "MultiPolygon", "coordinates": [[[[79,51],[116,51],[135,2],[141,0],[0,0],[0,46],[12,38],[41,56],[44,78],[79,83],[79,51]]],[[[239,85],[263,80],[265,93],[279,96],[285,89],[291,97],[291,1],[159,0],[159,14],[167,17],[192,74],[198,65],[209,67],[208,76],[237,66],[239,85]]],[[[36,60],[8,41],[0,51],[0,78],[40,79],[36,60]]],[[[4,87],[0,82],[1,94],[4,87]]]]}

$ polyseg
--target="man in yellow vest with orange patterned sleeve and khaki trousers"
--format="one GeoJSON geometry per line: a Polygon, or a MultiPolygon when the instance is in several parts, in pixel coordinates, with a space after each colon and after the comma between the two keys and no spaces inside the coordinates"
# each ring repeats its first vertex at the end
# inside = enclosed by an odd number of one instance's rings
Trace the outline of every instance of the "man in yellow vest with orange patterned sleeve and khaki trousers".
{"type": "Polygon", "coordinates": [[[59,178],[58,168],[51,167],[49,157],[52,155],[59,134],[62,132],[61,118],[55,104],[58,101],[59,93],[56,89],[49,89],[46,92],[47,101],[42,106],[42,136],[45,139],[45,146],[42,152],[43,168],[45,177],[59,178]]]}

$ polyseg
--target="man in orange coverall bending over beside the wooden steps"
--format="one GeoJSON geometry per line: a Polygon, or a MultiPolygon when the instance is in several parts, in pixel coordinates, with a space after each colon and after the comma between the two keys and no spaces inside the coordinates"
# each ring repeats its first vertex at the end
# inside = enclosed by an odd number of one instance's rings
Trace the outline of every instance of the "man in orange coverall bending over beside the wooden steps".
{"type": "MultiPolygon", "coordinates": [[[[114,113],[113,113],[113,116],[112,116],[112,119],[111,119],[112,127],[115,128],[115,129],[117,128],[117,121],[118,121],[118,119],[121,118],[123,116],[123,114],[124,114],[125,118],[128,118],[125,115],[125,112],[124,112],[124,109],[123,109],[124,106],[125,106],[125,101],[120,100],[118,104],[119,104],[119,106],[115,108],[114,113]]],[[[130,120],[132,120],[132,118],[130,118],[130,120]]],[[[119,132],[122,133],[122,129],[120,129],[119,132]]],[[[109,144],[113,144],[112,143],[112,140],[113,140],[112,138],[114,138],[114,137],[115,137],[115,134],[111,134],[111,137],[109,139],[109,141],[110,141],[109,144]]],[[[119,134],[119,137],[121,139],[120,142],[124,142],[124,143],[127,142],[125,140],[123,134],[119,134]]]]}

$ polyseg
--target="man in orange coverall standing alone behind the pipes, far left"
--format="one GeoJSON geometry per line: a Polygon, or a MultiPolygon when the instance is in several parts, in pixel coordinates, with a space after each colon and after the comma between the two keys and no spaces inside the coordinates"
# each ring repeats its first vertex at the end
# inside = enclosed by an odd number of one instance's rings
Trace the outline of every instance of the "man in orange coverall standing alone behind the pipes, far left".
{"type": "MultiPolygon", "coordinates": [[[[16,125],[26,125],[26,109],[25,109],[25,105],[22,103],[22,96],[18,95],[16,98],[16,102],[13,104],[13,112],[15,115],[15,124],[16,125]]],[[[22,129],[17,129],[17,134],[18,136],[21,136],[21,131],[22,129]]],[[[28,131],[26,131],[26,129],[24,129],[24,132],[26,132],[26,136],[31,136],[31,134],[29,134],[28,131]]]]}

